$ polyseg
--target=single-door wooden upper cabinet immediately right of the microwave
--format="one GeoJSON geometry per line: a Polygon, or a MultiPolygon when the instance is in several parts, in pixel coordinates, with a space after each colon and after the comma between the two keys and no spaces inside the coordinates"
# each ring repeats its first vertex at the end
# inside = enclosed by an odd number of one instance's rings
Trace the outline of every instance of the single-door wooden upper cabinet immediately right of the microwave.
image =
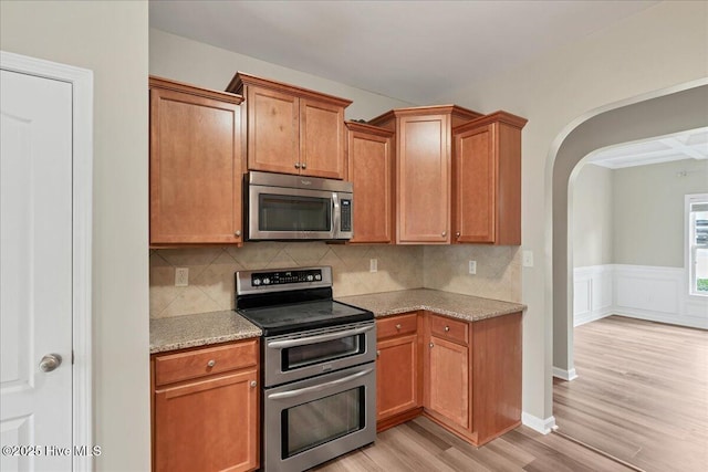
{"type": "Polygon", "coordinates": [[[352,243],[391,243],[393,225],[394,133],[361,123],[346,123],[347,180],[354,185],[352,243]]]}

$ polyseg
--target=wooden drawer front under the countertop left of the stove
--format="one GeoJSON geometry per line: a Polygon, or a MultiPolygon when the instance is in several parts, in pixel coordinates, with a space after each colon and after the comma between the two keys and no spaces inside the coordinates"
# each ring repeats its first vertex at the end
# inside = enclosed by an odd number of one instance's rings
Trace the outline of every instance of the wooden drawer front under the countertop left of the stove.
{"type": "Polygon", "coordinates": [[[155,385],[173,384],[258,363],[258,339],[155,357],[155,385]]]}

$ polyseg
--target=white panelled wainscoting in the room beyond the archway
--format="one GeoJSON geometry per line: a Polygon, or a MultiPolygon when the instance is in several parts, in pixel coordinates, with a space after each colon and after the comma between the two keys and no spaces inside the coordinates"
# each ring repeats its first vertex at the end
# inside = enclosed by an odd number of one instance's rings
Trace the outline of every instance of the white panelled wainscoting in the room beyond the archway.
{"type": "Polygon", "coordinates": [[[576,268],[573,326],[611,314],[708,329],[708,297],[688,295],[683,268],[628,264],[576,268]]]}

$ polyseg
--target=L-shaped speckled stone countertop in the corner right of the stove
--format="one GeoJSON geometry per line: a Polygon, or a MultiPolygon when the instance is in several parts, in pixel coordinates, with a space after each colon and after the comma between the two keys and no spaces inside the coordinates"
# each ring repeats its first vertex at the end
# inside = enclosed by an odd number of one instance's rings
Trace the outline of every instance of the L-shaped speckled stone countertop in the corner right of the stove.
{"type": "Polygon", "coordinates": [[[339,302],[360,306],[374,312],[374,316],[384,317],[400,313],[427,310],[439,315],[467,322],[492,318],[523,312],[527,305],[479,296],[442,292],[430,289],[402,290],[366,295],[336,297],[339,302]]]}

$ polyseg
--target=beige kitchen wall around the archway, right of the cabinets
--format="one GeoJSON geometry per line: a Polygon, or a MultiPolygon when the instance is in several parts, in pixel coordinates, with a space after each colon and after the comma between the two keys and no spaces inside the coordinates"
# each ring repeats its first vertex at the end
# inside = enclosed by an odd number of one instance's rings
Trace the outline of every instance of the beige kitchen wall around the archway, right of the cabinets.
{"type": "MultiPolygon", "coordinates": [[[[522,271],[523,410],[552,421],[552,169],[562,139],[591,112],[708,76],[708,3],[662,2],[513,71],[450,91],[472,109],[508,109],[523,129],[522,244],[535,265],[522,271]]],[[[565,221],[562,224],[566,224],[565,221]]]]}

